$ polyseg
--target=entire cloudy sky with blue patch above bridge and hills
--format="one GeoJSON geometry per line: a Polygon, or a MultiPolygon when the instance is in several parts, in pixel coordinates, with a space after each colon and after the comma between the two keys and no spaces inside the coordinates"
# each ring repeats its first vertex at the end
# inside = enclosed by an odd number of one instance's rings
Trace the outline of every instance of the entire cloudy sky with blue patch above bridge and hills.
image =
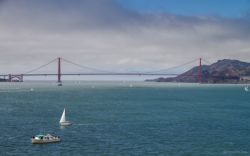
{"type": "MultiPolygon", "coordinates": [[[[0,0],[3,74],[59,56],[116,72],[200,57],[249,62],[249,43],[250,0],[0,0]]],[[[42,70],[56,72],[56,64],[42,70]]],[[[74,71],[82,70],[63,64],[74,71]]]]}

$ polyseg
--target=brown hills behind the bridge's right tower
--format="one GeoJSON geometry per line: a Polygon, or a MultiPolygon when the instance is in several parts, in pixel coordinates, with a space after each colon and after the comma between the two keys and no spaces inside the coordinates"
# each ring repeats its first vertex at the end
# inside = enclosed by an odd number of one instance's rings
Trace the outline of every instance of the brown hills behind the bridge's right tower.
{"type": "MultiPolygon", "coordinates": [[[[172,78],[157,78],[156,82],[199,82],[199,67],[172,78]]],[[[202,83],[246,83],[250,82],[250,63],[224,59],[202,66],[202,83]]]]}

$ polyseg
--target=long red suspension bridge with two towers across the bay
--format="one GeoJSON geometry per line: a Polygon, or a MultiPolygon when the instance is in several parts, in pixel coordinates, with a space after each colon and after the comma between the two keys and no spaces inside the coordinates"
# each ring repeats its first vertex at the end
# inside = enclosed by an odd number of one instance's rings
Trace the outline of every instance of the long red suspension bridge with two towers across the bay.
{"type": "Polygon", "coordinates": [[[181,65],[178,66],[174,66],[174,67],[170,67],[167,69],[161,69],[161,70],[157,70],[157,71],[150,71],[150,72],[111,72],[111,71],[106,71],[106,70],[100,70],[97,68],[93,68],[93,67],[88,67],[88,66],[84,66],[78,63],[74,63],[72,61],[69,61],[67,59],[58,57],[56,59],[53,59],[52,61],[43,64],[37,68],[34,68],[30,71],[27,71],[25,73],[21,73],[21,74],[0,74],[1,77],[3,77],[4,80],[6,80],[7,82],[23,82],[24,77],[36,77],[36,76],[57,76],[57,82],[60,84],[62,82],[62,76],[81,76],[81,75],[91,75],[91,76],[197,76],[197,79],[199,80],[199,82],[202,82],[202,61],[210,64],[208,61],[202,59],[202,58],[198,58],[198,59],[194,59],[192,61],[183,63],[181,65]],[[93,72],[76,72],[76,73],[62,73],[62,62],[67,62],[69,64],[72,64],[74,66],[83,68],[83,69],[89,69],[92,70],[93,72]],[[51,63],[57,62],[57,73],[35,73],[36,71],[40,70],[41,68],[44,68],[46,66],[48,66],[51,63]],[[176,73],[165,73],[163,71],[169,71],[170,69],[176,69],[176,68],[180,68],[183,66],[186,66],[188,64],[194,63],[194,62],[198,62],[198,72],[197,74],[192,74],[192,75],[185,75],[185,74],[176,74],[176,73]]]}

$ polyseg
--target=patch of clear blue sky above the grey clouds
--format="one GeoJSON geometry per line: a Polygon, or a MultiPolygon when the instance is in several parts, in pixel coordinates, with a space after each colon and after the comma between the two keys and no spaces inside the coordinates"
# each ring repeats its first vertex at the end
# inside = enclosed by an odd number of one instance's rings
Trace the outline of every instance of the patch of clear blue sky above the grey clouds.
{"type": "Polygon", "coordinates": [[[120,0],[123,7],[139,12],[165,12],[183,16],[239,18],[250,9],[249,0],[120,0]]]}

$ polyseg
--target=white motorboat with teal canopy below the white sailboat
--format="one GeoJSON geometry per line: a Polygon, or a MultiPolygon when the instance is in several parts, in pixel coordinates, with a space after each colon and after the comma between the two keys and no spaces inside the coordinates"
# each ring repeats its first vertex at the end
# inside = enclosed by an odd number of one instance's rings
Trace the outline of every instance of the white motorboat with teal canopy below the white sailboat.
{"type": "Polygon", "coordinates": [[[60,141],[61,139],[59,136],[53,136],[51,134],[47,135],[39,134],[31,138],[32,144],[46,144],[46,143],[55,143],[60,141]]]}

